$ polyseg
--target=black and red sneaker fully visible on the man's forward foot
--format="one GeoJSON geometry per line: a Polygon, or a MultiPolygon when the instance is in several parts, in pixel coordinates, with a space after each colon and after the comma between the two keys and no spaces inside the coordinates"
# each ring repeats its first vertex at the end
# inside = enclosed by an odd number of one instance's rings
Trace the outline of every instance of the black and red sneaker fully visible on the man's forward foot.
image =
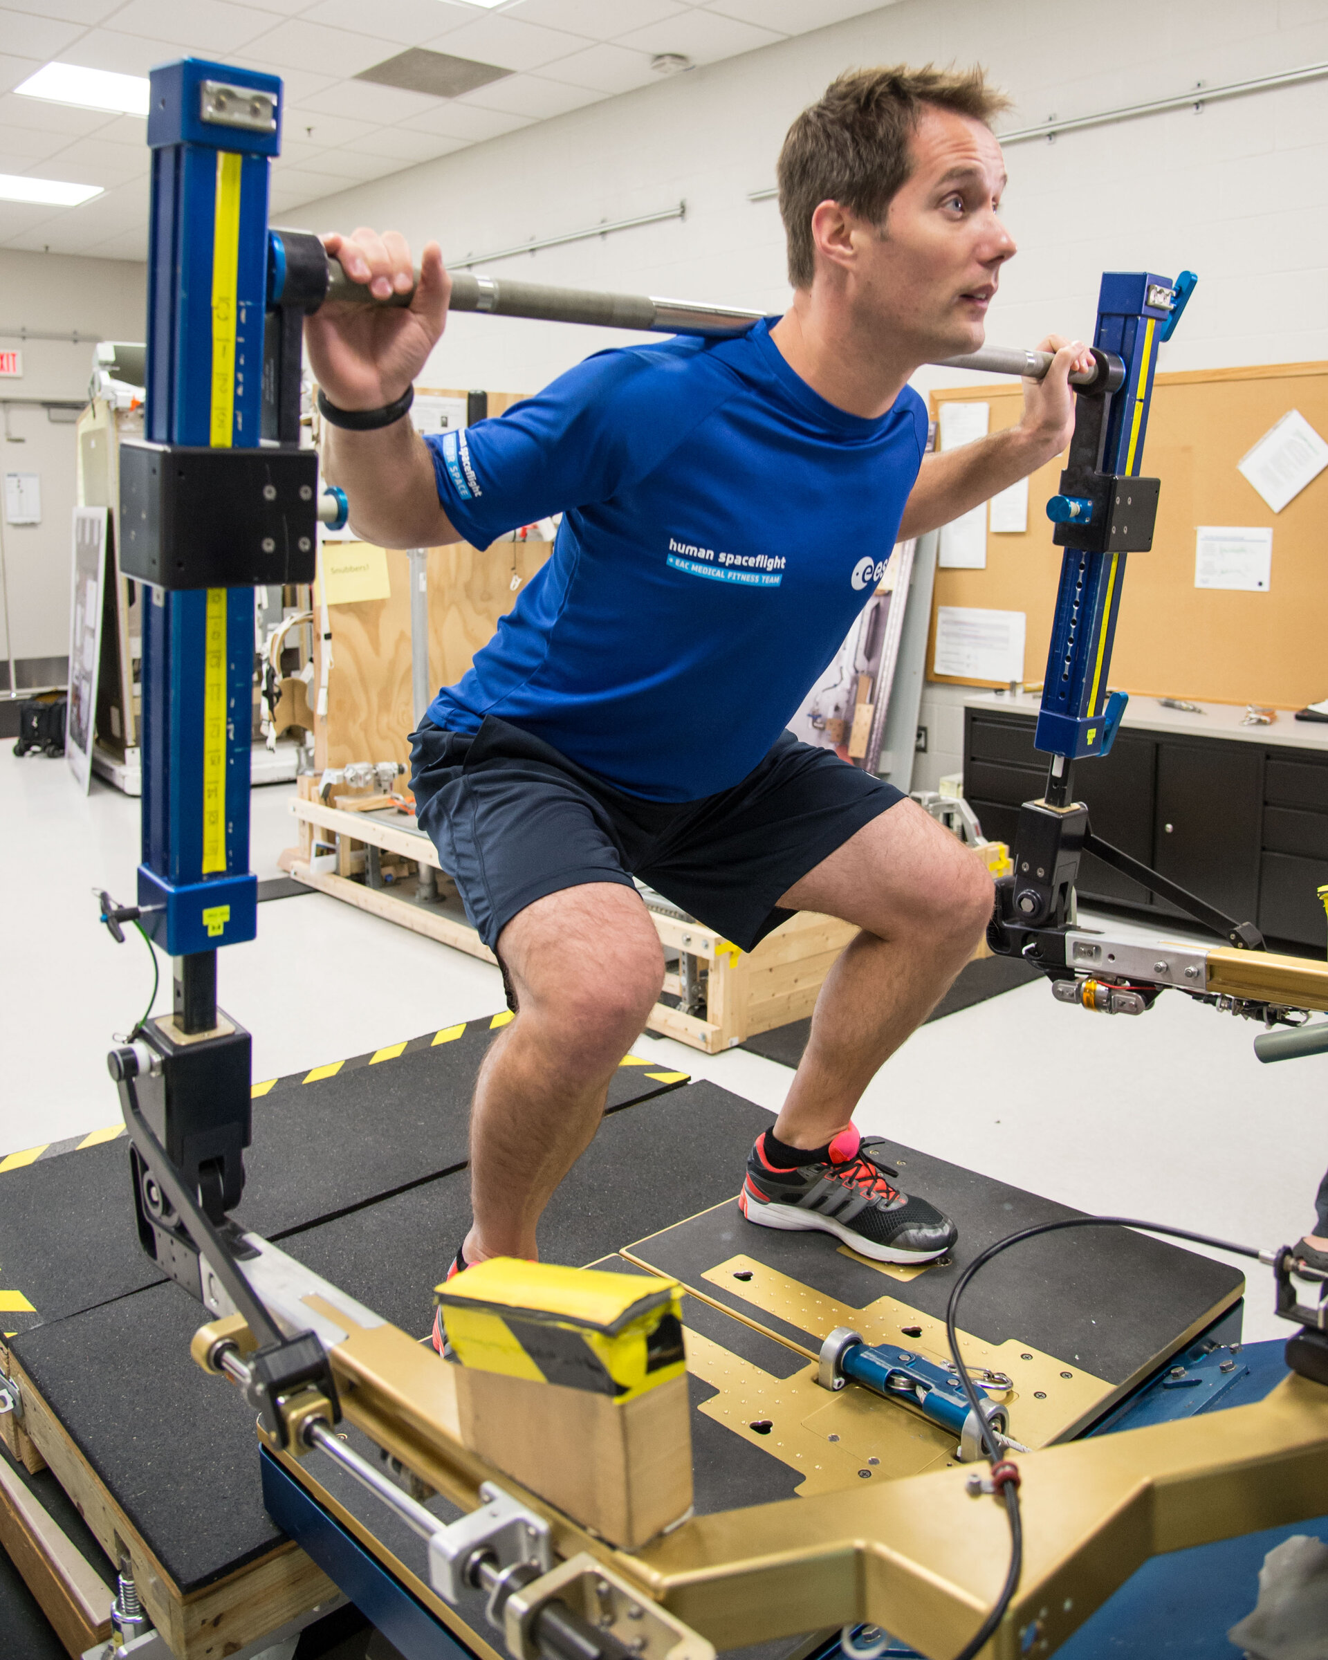
{"type": "Polygon", "coordinates": [[[880,1135],[863,1140],[850,1124],[830,1142],[825,1162],[780,1169],[767,1159],[762,1132],[747,1159],[739,1208],[764,1228],[833,1233],[876,1262],[933,1262],[959,1230],[925,1199],[900,1192],[898,1170],[878,1157],[883,1147],[880,1135]]]}

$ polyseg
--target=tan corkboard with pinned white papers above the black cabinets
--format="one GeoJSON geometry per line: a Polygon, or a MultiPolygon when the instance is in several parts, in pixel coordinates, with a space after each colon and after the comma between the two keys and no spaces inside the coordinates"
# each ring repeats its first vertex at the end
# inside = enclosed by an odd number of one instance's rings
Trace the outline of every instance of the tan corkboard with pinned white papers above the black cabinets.
{"type": "MultiPolygon", "coordinates": [[[[938,403],[986,402],[991,432],[1013,427],[1023,407],[1016,385],[933,393],[938,403]]],[[[1159,374],[1144,473],[1162,480],[1152,553],[1132,553],[1116,627],[1111,686],[1145,697],[1272,704],[1300,709],[1328,696],[1328,471],[1282,513],[1273,513],[1235,463],[1288,410],[1328,437],[1328,364],[1270,364],[1159,374]],[[1194,586],[1199,525],[1272,525],[1268,593],[1194,586]]],[[[1061,549],[1052,546],[1046,501],[1059,486],[1062,458],[1029,480],[1028,531],[988,533],[984,571],[936,571],[928,679],[936,647],[936,606],[978,606],[1028,614],[1024,679],[1046,669],[1061,549]]]]}

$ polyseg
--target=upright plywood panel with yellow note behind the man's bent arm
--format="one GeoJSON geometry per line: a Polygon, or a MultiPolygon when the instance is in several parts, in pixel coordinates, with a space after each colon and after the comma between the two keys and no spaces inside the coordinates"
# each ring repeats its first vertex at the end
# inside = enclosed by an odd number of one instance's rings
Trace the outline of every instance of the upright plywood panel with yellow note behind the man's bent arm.
{"type": "MultiPolygon", "coordinates": [[[[465,397],[442,392],[442,397],[465,397]]],[[[518,392],[490,392],[490,415],[520,402],[518,392]]],[[[453,686],[475,652],[486,644],[498,618],[516,603],[513,566],[521,588],[549,556],[546,541],[496,541],[491,548],[453,543],[428,549],[428,682],[453,686]]],[[[388,599],[329,606],[332,671],[327,677],[327,720],[315,734],[320,767],[345,767],[357,760],[410,760],[415,727],[410,692],[410,559],[387,549],[392,583],[388,599]]],[[[314,686],[322,664],[317,659],[314,686]]]]}

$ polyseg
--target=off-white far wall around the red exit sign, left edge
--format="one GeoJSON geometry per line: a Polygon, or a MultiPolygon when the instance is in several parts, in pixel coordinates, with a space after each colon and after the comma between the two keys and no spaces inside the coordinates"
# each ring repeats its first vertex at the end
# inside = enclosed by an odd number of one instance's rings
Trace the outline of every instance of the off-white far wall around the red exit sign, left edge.
{"type": "MultiPolygon", "coordinates": [[[[0,380],[0,398],[78,400],[88,393],[91,340],[20,340],[17,330],[76,330],[108,340],[141,340],[144,309],[146,266],[0,249],[0,347],[23,352],[23,377],[0,380]]],[[[12,654],[23,686],[45,681],[50,676],[46,659],[63,662],[70,649],[75,428],[53,425],[43,408],[22,403],[8,403],[3,418],[0,471],[37,473],[42,480],[42,523],[0,525],[8,601],[0,606],[0,659],[10,656],[8,613],[12,654]]],[[[56,666],[51,677],[63,677],[63,667],[56,666]]]]}

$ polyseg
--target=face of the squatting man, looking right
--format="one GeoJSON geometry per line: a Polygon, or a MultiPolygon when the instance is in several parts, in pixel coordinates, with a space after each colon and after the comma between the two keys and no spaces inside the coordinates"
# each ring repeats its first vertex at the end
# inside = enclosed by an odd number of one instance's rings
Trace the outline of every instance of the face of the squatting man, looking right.
{"type": "Polygon", "coordinates": [[[860,295],[920,362],[976,352],[1001,266],[1014,254],[999,217],[1001,146],[981,121],[926,106],[911,158],[883,234],[855,237],[860,295]]]}

